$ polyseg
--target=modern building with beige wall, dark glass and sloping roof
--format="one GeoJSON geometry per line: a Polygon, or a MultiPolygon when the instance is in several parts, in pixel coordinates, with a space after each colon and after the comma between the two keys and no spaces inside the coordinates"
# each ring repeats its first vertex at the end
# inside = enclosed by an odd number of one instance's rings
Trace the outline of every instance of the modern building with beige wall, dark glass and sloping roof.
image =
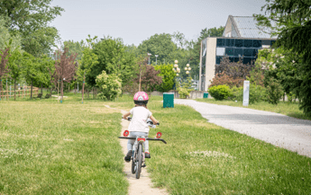
{"type": "Polygon", "coordinates": [[[270,37],[270,29],[260,30],[252,16],[229,15],[223,37],[207,37],[201,42],[199,90],[207,91],[215,77],[215,66],[228,56],[243,64],[256,60],[259,49],[270,48],[276,37],[270,37]]]}

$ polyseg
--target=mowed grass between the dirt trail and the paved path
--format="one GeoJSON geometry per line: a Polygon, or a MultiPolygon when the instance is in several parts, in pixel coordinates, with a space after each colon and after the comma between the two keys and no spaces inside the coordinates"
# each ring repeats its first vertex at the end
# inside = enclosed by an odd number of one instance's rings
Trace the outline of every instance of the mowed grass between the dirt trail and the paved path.
{"type": "MultiPolygon", "coordinates": [[[[192,108],[148,108],[168,142],[150,142],[147,169],[156,187],[170,194],[311,194],[311,159],[224,129],[192,108]]],[[[131,101],[115,104],[130,110],[131,101]]]]}

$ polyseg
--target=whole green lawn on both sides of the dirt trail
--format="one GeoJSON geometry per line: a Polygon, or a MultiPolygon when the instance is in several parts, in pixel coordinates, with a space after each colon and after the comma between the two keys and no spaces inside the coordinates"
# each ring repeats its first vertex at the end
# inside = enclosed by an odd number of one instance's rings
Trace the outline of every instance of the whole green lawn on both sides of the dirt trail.
{"type": "MultiPolygon", "coordinates": [[[[80,94],[56,100],[0,102],[0,194],[126,194],[115,102],[80,94]]],[[[311,194],[311,159],[208,123],[183,105],[148,108],[168,142],[151,142],[147,170],[170,194],[311,194]]]]}

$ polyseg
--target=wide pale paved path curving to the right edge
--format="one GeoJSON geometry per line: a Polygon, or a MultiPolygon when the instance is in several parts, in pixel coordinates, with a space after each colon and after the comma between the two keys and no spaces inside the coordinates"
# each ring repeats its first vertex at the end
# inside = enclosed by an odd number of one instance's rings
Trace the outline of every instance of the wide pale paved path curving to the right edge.
{"type": "Polygon", "coordinates": [[[175,99],[200,112],[209,122],[311,157],[311,121],[270,111],[175,99]]]}

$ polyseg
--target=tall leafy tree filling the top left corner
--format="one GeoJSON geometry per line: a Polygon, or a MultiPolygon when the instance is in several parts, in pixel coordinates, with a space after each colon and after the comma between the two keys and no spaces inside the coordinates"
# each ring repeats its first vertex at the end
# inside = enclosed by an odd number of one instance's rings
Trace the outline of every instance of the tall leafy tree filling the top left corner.
{"type": "Polygon", "coordinates": [[[52,0],[0,1],[0,15],[7,20],[11,33],[23,37],[23,49],[35,57],[50,52],[58,31],[48,26],[64,9],[50,6],[52,0]]]}

